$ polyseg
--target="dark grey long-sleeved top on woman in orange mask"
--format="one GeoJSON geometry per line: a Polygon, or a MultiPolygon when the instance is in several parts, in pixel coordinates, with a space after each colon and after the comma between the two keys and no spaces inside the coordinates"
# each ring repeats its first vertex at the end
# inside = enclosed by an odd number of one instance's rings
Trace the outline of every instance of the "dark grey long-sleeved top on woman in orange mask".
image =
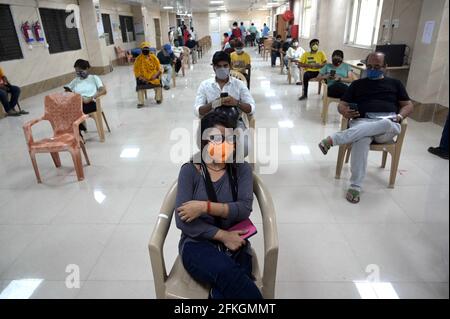
{"type": "Polygon", "coordinates": [[[217,201],[227,203],[229,215],[227,219],[217,221],[214,217],[203,214],[191,223],[183,222],[176,208],[190,200],[207,201],[205,181],[201,173],[192,163],[186,163],[181,167],[178,176],[178,191],[175,205],[175,221],[181,230],[179,252],[187,242],[199,242],[212,240],[219,229],[228,229],[238,222],[249,218],[253,206],[253,173],[248,163],[236,164],[236,177],[238,185],[237,201],[233,201],[233,193],[226,172],[217,182],[213,182],[217,201]]]}

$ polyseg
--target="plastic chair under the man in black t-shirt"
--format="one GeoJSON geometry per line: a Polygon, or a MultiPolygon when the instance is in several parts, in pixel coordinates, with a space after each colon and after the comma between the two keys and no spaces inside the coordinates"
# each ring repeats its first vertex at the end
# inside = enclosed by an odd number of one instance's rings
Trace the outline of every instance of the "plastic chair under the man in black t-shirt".
{"type": "MultiPolygon", "coordinates": [[[[407,127],[408,127],[408,121],[406,119],[404,119],[401,123],[400,134],[397,136],[394,143],[391,143],[391,144],[373,143],[370,145],[371,151],[383,152],[383,156],[381,159],[381,168],[386,167],[386,160],[387,160],[388,153],[391,155],[391,158],[392,158],[391,173],[389,176],[388,188],[394,188],[394,185],[395,185],[398,164],[400,162],[400,154],[402,151],[403,141],[405,139],[407,127]]],[[[345,130],[347,128],[348,128],[348,120],[345,117],[342,117],[341,130],[345,130]]],[[[342,172],[342,166],[344,164],[344,158],[345,158],[345,163],[348,163],[351,150],[352,150],[351,144],[345,144],[345,145],[339,146],[338,159],[337,159],[337,165],[336,165],[336,176],[335,176],[336,179],[341,178],[341,172],[342,172]]]]}

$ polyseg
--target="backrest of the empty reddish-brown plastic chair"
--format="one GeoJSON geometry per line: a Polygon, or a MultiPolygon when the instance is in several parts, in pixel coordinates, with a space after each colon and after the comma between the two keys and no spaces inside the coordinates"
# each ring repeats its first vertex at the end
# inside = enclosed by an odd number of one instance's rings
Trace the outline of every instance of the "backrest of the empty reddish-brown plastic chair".
{"type": "Polygon", "coordinates": [[[45,97],[44,119],[56,134],[72,133],[73,123],[83,116],[83,98],[71,92],[53,93],[45,97]]]}

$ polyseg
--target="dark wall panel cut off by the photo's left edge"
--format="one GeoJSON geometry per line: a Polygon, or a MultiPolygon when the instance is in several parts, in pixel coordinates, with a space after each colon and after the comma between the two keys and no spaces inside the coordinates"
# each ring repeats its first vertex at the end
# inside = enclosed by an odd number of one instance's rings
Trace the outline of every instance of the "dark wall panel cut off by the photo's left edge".
{"type": "Polygon", "coordinates": [[[22,59],[16,27],[8,5],[0,4],[0,61],[22,59]]]}

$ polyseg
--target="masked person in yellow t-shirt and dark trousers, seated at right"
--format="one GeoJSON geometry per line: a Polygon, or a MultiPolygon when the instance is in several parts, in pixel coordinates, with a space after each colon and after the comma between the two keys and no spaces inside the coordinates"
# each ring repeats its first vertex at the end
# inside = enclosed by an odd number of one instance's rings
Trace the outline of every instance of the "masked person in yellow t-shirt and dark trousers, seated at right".
{"type": "Polygon", "coordinates": [[[319,40],[313,39],[309,42],[310,52],[305,52],[300,58],[299,66],[305,69],[303,73],[303,95],[299,100],[308,98],[309,80],[319,75],[320,69],[327,63],[327,56],[323,51],[319,51],[319,40]]]}

